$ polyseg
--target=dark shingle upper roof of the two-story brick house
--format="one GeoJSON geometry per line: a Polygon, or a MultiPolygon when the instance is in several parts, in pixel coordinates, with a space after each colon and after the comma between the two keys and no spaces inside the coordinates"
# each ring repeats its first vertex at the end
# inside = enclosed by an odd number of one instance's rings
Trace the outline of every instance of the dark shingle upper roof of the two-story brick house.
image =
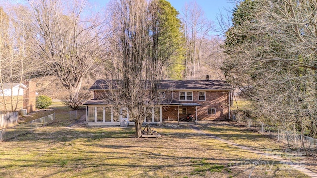
{"type": "MultiPolygon", "coordinates": [[[[109,89],[108,84],[118,80],[96,80],[90,87],[91,90],[109,89]]],[[[231,90],[231,86],[223,80],[161,80],[159,89],[211,89],[211,90],[231,90]]]]}

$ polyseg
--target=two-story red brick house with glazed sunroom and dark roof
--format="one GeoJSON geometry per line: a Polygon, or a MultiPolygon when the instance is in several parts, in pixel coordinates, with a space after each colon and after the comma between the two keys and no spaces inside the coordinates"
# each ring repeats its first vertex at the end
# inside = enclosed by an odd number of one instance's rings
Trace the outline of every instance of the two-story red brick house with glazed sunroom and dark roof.
{"type": "MultiPolygon", "coordinates": [[[[114,112],[106,99],[98,96],[108,89],[107,81],[97,80],[90,90],[94,99],[84,103],[87,107],[87,125],[133,125],[126,108],[114,112]],[[120,114],[117,114],[120,113],[120,114]]],[[[159,92],[164,98],[152,110],[152,117],[144,122],[162,123],[181,120],[192,114],[194,120],[229,119],[231,86],[221,80],[162,80],[159,92]]]]}

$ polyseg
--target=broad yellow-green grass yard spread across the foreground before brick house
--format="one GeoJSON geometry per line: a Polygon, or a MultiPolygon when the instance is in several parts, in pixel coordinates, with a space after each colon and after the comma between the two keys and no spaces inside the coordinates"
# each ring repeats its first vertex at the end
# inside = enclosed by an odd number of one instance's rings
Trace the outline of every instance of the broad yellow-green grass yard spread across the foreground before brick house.
{"type": "MultiPolygon", "coordinates": [[[[197,134],[188,125],[153,126],[161,138],[135,139],[133,127],[65,127],[59,122],[0,143],[0,177],[246,178],[260,158],[197,134]]],[[[283,149],[258,133],[234,126],[199,127],[251,147],[283,149]]],[[[252,177],[307,177],[272,159],[261,161],[252,177]]]]}

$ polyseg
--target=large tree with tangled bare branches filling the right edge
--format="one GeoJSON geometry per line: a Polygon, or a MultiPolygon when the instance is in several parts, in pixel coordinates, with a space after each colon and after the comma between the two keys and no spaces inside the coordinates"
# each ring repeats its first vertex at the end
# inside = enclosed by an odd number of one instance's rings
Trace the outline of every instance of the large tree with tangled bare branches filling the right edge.
{"type": "Polygon", "coordinates": [[[224,71],[266,122],[316,136],[314,0],[245,0],[226,32],[224,71]]]}

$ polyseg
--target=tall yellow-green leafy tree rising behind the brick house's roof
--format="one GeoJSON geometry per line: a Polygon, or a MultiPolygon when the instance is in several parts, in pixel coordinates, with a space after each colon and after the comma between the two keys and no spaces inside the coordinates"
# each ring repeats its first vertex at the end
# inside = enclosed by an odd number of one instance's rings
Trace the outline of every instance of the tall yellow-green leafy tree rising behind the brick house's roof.
{"type": "Polygon", "coordinates": [[[178,12],[166,0],[153,0],[150,3],[150,33],[152,37],[152,58],[166,63],[166,77],[182,79],[184,70],[184,49],[181,33],[181,21],[178,12]]]}

